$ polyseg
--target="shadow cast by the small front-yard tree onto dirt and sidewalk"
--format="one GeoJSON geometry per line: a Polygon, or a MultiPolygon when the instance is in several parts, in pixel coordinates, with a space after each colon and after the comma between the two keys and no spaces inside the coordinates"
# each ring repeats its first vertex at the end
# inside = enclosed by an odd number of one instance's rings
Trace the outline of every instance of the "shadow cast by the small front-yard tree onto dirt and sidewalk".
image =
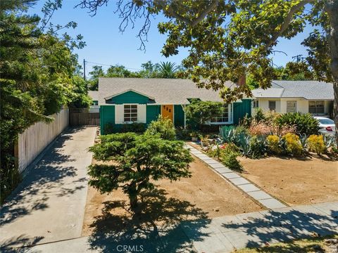
{"type": "Polygon", "coordinates": [[[211,220],[191,203],[166,195],[165,190],[143,192],[140,214],[130,212],[124,201],[104,202],[101,216],[91,225],[91,248],[100,252],[121,252],[123,247],[131,252],[141,248],[142,252],[194,252],[182,227],[194,229],[192,240],[202,240],[208,234],[199,229],[211,220]]]}

